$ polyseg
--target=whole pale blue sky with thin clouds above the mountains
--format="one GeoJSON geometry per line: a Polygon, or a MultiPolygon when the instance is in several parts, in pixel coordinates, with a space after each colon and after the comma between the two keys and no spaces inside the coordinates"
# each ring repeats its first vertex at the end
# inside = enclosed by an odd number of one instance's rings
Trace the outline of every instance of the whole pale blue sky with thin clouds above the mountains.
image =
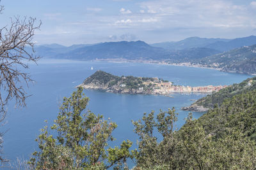
{"type": "Polygon", "coordinates": [[[33,39],[38,45],[256,35],[255,0],[1,0],[0,4],[1,27],[17,15],[42,21],[33,39]]]}

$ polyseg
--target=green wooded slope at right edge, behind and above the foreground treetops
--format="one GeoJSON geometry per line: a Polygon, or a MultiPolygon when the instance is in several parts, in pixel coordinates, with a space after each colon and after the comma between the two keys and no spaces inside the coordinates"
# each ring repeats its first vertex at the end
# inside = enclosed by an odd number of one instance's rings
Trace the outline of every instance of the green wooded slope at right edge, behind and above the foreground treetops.
{"type": "Polygon", "coordinates": [[[207,133],[216,138],[225,136],[227,129],[236,129],[244,136],[256,139],[256,90],[227,99],[219,108],[198,119],[207,133]]]}

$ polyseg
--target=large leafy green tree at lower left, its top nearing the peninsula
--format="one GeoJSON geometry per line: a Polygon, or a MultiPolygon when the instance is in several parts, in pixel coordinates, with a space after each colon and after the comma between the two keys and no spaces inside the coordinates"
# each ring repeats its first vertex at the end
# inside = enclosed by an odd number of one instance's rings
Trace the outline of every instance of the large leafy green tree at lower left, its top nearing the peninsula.
{"type": "Polygon", "coordinates": [[[33,169],[108,169],[117,164],[126,164],[131,141],[124,141],[120,148],[109,148],[113,141],[112,132],[117,127],[102,115],[85,111],[88,97],[79,87],[71,97],[64,97],[55,124],[47,126],[36,141],[40,151],[34,152],[29,164],[33,169]]]}

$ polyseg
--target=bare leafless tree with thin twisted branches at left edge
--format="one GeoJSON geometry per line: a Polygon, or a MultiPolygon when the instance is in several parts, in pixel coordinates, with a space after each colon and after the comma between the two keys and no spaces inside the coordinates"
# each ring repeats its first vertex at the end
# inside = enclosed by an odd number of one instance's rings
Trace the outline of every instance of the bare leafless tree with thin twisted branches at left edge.
{"type": "MultiPolygon", "coordinates": [[[[1,1],[0,1],[1,2],[1,1]]],[[[0,6],[0,13],[4,6],[0,6]]],[[[17,106],[26,106],[26,90],[23,84],[31,81],[26,62],[36,62],[39,57],[34,55],[33,36],[40,29],[41,22],[36,18],[11,18],[10,25],[0,28],[0,122],[6,115],[6,106],[14,99],[17,106]],[[29,50],[32,49],[32,51],[29,50]]],[[[0,133],[0,146],[3,143],[3,132],[0,133]]],[[[0,160],[4,162],[3,157],[0,160]]]]}

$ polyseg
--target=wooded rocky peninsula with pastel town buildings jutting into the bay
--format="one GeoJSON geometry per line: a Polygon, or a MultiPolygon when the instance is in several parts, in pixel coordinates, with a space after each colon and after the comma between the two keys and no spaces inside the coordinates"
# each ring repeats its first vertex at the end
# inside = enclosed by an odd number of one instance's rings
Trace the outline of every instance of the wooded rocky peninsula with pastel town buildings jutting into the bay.
{"type": "Polygon", "coordinates": [[[145,78],[134,76],[115,76],[104,71],[96,71],[86,78],[81,85],[84,89],[104,90],[120,94],[156,94],[169,96],[175,92],[181,93],[211,93],[218,92],[225,86],[189,87],[173,85],[161,78],[145,78]]]}

